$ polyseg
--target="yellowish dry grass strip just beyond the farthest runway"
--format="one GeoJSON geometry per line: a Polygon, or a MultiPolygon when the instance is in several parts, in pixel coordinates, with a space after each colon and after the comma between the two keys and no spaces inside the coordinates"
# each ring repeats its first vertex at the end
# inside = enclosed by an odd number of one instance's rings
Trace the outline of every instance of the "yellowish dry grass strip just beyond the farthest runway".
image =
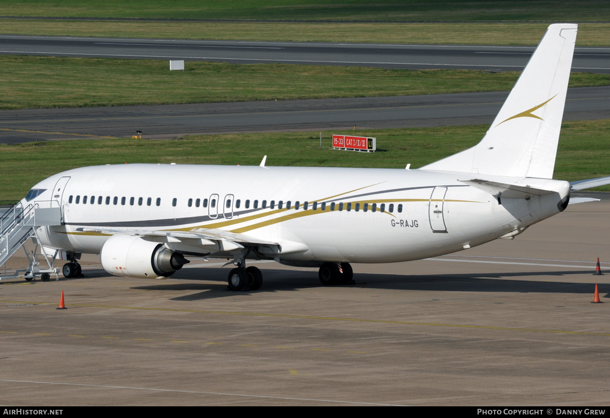
{"type": "MultiPolygon", "coordinates": [[[[548,23],[202,23],[0,18],[0,34],[5,35],[399,44],[536,45],[547,27],[548,23]]],[[[579,25],[576,46],[609,45],[610,24],[579,25]]]]}

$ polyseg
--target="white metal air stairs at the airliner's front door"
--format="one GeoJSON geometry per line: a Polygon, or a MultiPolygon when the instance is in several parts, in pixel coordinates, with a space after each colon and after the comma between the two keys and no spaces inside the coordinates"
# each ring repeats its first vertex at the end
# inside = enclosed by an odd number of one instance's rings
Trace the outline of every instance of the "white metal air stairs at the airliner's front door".
{"type": "Polygon", "coordinates": [[[56,280],[59,280],[59,268],[54,266],[55,257],[49,257],[45,252],[45,248],[40,246],[40,240],[37,235],[38,227],[51,225],[62,225],[62,211],[57,202],[46,202],[49,207],[40,207],[40,204],[27,205],[23,207],[21,203],[13,205],[0,218],[0,267],[4,266],[3,278],[24,278],[27,281],[33,280],[36,276],[40,276],[44,282],[48,281],[51,274],[54,273],[56,280]],[[57,207],[53,207],[55,204],[57,207]],[[35,243],[35,249],[32,253],[28,253],[24,244],[28,239],[32,238],[35,243]],[[14,275],[7,275],[6,262],[9,258],[23,248],[29,260],[29,267],[23,270],[17,270],[14,275]],[[38,249],[40,248],[40,253],[38,249]],[[41,268],[38,262],[38,256],[45,257],[48,268],[41,268]]]}

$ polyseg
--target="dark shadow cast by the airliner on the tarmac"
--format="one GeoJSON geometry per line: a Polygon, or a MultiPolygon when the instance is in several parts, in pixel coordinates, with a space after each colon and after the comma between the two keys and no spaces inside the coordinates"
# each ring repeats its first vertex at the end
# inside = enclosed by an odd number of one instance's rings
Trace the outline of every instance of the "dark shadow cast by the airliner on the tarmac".
{"type": "MultiPolygon", "coordinates": [[[[315,271],[267,270],[264,283],[258,291],[226,291],[227,269],[190,269],[178,272],[172,278],[181,283],[143,283],[133,289],[152,291],[198,291],[172,300],[203,300],[220,297],[250,296],[259,292],[297,291],[302,289],[325,289],[318,281],[315,271]],[[205,280],[206,283],[198,283],[205,280]],[[182,282],[184,281],[184,282],[182,282]],[[214,283],[210,283],[214,282],[214,283]]],[[[506,272],[473,273],[450,275],[397,275],[397,274],[354,274],[354,285],[333,286],[334,288],[393,289],[403,291],[429,292],[517,292],[517,293],[565,293],[593,295],[595,283],[603,286],[603,277],[595,277],[589,271],[545,271],[545,272],[506,272]],[[539,282],[533,280],[512,280],[507,277],[531,276],[575,276],[587,283],[539,282]],[[501,280],[498,280],[501,279],[501,280]]],[[[600,295],[610,298],[610,294],[600,295]]]]}

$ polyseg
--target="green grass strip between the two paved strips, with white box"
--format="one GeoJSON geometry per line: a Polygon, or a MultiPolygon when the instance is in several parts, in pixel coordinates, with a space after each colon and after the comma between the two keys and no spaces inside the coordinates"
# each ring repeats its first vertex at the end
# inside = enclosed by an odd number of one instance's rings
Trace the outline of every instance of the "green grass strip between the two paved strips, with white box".
{"type": "MultiPolygon", "coordinates": [[[[0,55],[0,110],[510,90],[519,73],[0,55]]],[[[610,85],[573,73],[571,87],[610,85]]]]}

